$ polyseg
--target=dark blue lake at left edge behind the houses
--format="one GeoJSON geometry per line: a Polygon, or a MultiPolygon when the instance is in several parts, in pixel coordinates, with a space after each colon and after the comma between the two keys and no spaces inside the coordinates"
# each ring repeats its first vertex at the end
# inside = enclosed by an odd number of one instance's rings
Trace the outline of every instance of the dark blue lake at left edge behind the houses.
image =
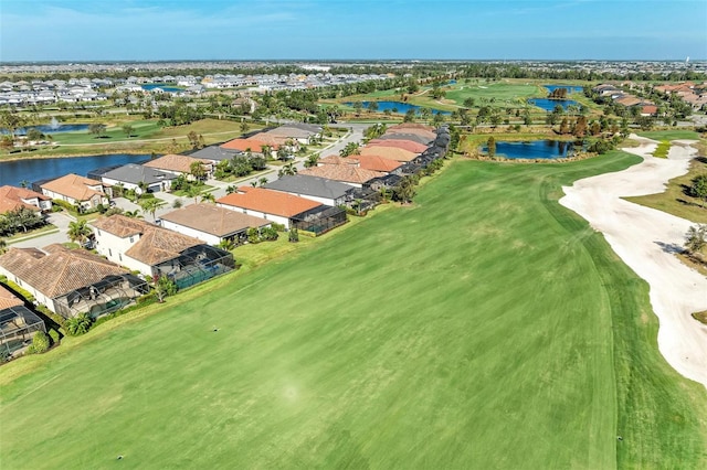
{"type": "Polygon", "coordinates": [[[19,186],[21,181],[35,182],[63,177],[68,173],[85,177],[86,173],[97,168],[139,163],[149,159],[149,154],[116,153],[0,161],[0,186],[4,184],[19,186]]]}

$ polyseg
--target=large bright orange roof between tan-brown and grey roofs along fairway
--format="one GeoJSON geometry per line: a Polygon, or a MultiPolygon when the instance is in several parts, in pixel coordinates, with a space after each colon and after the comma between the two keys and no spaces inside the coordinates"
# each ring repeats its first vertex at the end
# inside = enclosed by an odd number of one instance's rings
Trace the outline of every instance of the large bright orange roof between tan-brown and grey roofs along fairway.
{"type": "Polygon", "coordinates": [[[321,204],[305,197],[266,190],[264,188],[239,188],[238,193],[228,194],[217,201],[219,204],[250,209],[266,214],[293,217],[321,204]]]}

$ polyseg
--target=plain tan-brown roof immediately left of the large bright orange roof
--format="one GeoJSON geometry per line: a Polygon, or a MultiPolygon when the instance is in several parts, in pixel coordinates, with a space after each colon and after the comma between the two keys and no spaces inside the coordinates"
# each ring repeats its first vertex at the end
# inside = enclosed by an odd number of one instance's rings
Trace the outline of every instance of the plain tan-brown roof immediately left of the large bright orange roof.
{"type": "Polygon", "coordinates": [[[219,237],[232,235],[250,227],[270,225],[265,218],[203,203],[187,205],[165,214],[162,221],[173,222],[219,237]]]}

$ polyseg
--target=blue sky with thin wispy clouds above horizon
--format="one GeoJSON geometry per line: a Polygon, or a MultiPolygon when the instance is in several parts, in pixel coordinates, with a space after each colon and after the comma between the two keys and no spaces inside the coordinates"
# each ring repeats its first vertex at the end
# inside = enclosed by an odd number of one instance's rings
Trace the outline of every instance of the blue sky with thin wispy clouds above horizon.
{"type": "Polygon", "coordinates": [[[0,61],[707,58],[699,0],[2,0],[0,61]]]}

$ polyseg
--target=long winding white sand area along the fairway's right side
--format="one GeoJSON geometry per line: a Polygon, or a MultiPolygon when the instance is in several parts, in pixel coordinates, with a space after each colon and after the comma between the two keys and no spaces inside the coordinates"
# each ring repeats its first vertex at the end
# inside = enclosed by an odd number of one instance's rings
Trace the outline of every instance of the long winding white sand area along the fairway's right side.
{"type": "Polygon", "coordinates": [[[695,223],[621,199],[665,191],[668,180],[687,173],[697,150],[689,147],[694,141],[675,140],[668,158],[661,159],[652,156],[656,141],[631,138],[641,145],[623,150],[643,162],[563,186],[559,202],[604,234],[621,259],[648,282],[661,353],[678,373],[707,387],[707,325],[692,317],[707,310],[707,278],[674,255],[695,223]]]}

